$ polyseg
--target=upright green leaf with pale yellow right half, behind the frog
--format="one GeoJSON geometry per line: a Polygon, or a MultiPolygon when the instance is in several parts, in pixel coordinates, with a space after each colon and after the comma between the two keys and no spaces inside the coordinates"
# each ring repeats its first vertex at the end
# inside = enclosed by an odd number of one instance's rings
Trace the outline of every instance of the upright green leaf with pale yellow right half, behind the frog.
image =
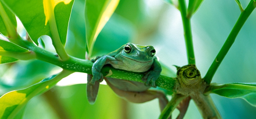
{"type": "Polygon", "coordinates": [[[97,36],[115,11],[118,3],[119,0],[86,0],[85,35],[88,57],[92,54],[97,36]]]}

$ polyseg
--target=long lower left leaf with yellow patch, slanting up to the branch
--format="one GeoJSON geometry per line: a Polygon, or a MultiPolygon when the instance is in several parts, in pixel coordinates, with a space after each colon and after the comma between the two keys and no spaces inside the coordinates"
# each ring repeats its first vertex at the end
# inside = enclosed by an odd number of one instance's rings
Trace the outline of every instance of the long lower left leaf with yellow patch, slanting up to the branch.
{"type": "Polygon", "coordinates": [[[0,118],[13,118],[31,98],[50,90],[57,82],[71,73],[71,71],[63,70],[58,75],[43,79],[41,82],[26,89],[14,90],[4,94],[0,98],[0,118]]]}

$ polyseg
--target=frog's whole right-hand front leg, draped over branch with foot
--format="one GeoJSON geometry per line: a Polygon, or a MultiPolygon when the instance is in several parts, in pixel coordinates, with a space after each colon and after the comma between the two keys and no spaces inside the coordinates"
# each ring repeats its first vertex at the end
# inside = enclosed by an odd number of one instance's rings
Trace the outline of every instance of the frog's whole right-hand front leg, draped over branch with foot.
{"type": "Polygon", "coordinates": [[[151,66],[150,71],[146,72],[145,76],[142,77],[142,80],[146,82],[146,85],[156,87],[155,81],[160,76],[160,73],[162,71],[161,65],[157,60],[157,57],[154,57],[154,62],[151,66]],[[151,81],[151,83],[150,83],[151,81]]]}

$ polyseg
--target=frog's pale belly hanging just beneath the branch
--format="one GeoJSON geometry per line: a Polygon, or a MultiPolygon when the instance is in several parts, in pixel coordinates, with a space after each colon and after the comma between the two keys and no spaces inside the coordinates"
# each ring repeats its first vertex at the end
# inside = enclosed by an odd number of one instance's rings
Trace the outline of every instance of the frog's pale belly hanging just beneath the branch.
{"type": "Polygon", "coordinates": [[[143,92],[149,89],[149,86],[145,86],[144,83],[121,80],[121,79],[113,79],[106,78],[108,82],[110,82],[113,86],[123,91],[131,91],[131,92],[143,92]]]}

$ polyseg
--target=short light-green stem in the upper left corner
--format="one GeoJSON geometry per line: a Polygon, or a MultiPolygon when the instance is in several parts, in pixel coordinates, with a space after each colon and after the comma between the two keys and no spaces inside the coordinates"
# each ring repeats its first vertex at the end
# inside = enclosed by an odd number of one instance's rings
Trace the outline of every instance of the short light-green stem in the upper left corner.
{"type": "Polygon", "coordinates": [[[0,1],[0,16],[3,19],[5,28],[8,33],[8,37],[10,39],[16,39],[18,35],[17,35],[16,29],[15,29],[15,26],[12,24],[10,18],[8,17],[7,13],[5,12],[1,1],[0,1]]]}

